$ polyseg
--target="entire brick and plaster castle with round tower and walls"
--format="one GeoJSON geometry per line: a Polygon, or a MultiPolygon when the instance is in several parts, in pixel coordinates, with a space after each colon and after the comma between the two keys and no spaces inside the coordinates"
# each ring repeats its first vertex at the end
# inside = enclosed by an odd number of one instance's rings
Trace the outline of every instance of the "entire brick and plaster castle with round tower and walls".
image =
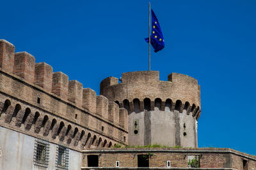
{"type": "Polygon", "coordinates": [[[0,40],[0,169],[254,169],[256,157],[197,148],[200,85],[123,73],[100,95],[0,40]],[[161,148],[131,148],[159,144],[161,148]]]}

